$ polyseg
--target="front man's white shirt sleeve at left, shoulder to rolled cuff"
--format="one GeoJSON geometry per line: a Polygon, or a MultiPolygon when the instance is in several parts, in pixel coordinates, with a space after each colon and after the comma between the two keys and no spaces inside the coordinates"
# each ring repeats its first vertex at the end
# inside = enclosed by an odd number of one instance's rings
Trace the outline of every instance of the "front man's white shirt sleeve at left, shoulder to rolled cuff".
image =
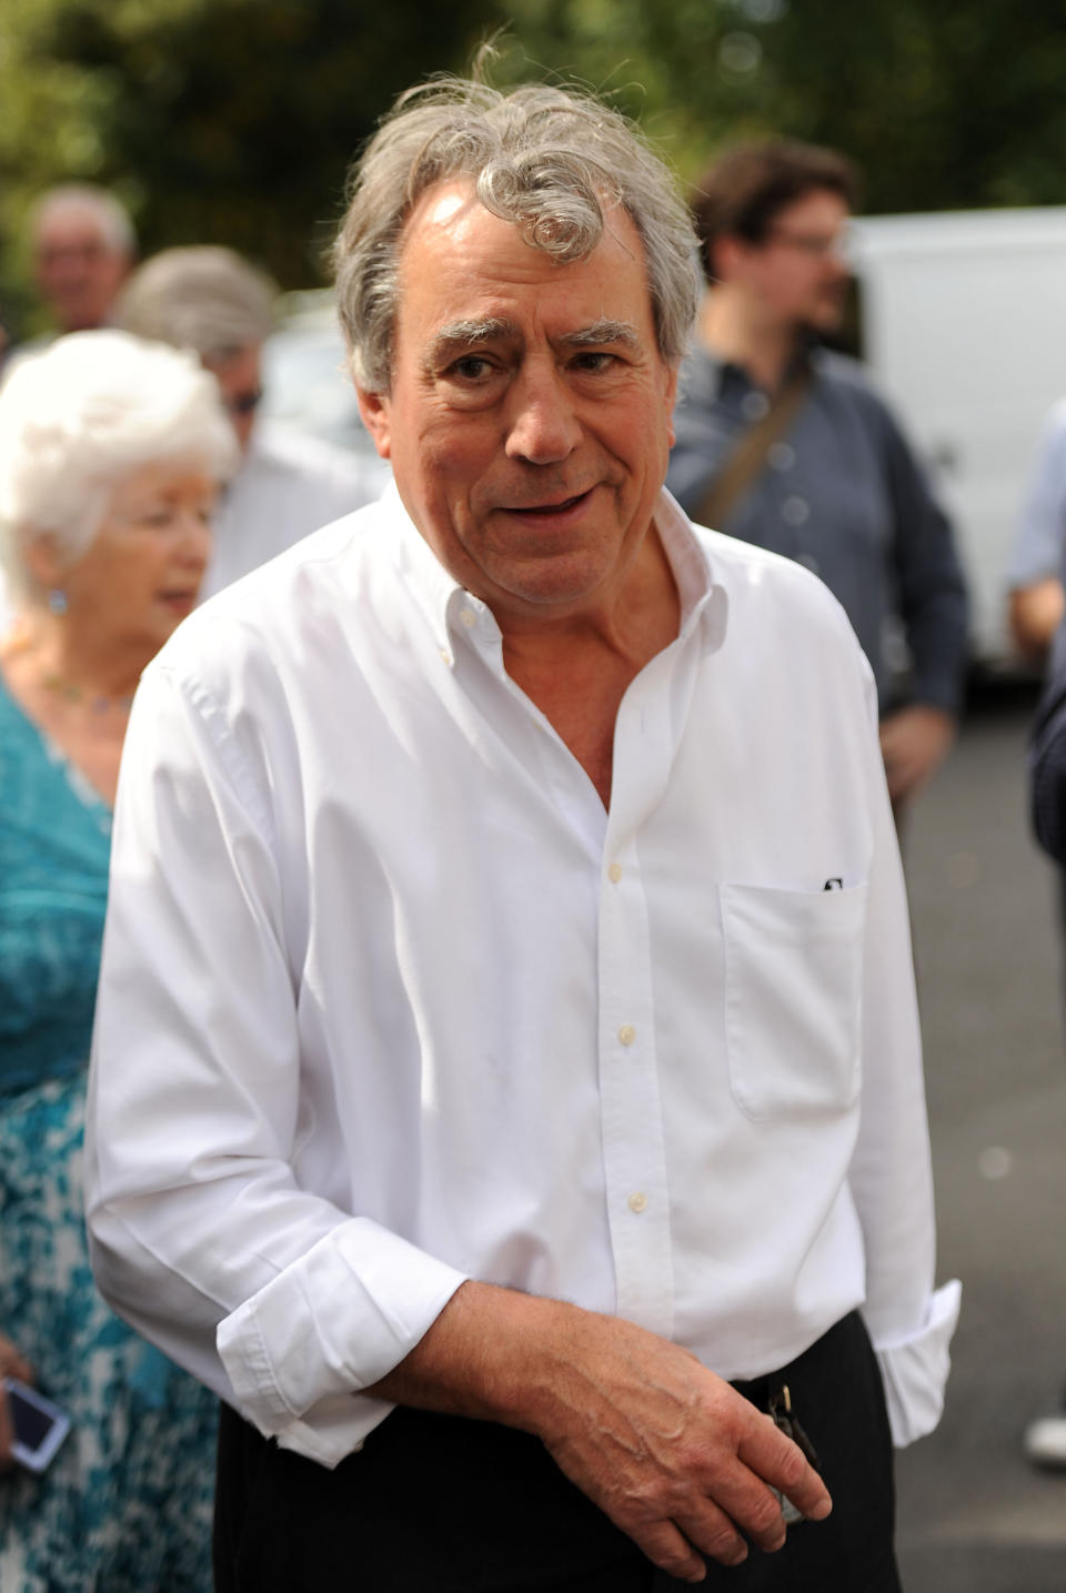
{"type": "MultiPolygon", "coordinates": [[[[249,734],[253,734],[249,730],[249,734]]],[[[464,1281],[301,1188],[298,975],[261,771],[155,666],[123,758],[86,1125],[104,1295],[265,1434],[336,1464],[464,1281]]]]}

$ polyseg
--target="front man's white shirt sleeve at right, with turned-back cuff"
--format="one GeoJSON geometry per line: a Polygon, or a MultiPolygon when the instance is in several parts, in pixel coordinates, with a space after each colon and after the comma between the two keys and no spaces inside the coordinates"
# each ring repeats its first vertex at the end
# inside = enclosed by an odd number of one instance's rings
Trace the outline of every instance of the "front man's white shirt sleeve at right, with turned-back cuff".
{"type": "Polygon", "coordinates": [[[862,1314],[884,1380],[892,1440],[902,1448],[940,1419],[961,1286],[951,1281],[934,1289],[932,1164],[907,897],[873,750],[868,781],[875,847],[864,959],[864,1085],[849,1187],[867,1255],[862,1314]]]}

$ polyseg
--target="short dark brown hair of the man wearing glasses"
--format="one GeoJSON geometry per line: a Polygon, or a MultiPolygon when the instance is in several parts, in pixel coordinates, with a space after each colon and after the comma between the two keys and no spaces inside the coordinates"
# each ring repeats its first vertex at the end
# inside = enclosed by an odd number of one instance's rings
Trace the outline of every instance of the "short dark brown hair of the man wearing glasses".
{"type": "Polygon", "coordinates": [[[859,170],[846,155],[794,139],[739,143],[727,150],[703,174],[692,201],[707,280],[715,276],[714,245],[720,237],[762,244],[786,205],[822,188],[840,194],[848,209],[854,209],[859,170]]]}

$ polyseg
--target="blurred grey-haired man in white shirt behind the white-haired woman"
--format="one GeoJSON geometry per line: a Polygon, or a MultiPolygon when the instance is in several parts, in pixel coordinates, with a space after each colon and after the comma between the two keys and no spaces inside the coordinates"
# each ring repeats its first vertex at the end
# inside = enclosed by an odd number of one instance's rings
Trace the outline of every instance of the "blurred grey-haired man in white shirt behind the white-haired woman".
{"type": "Polygon", "coordinates": [[[199,354],[218,381],[244,452],[215,513],[204,596],[360,508],[389,479],[384,467],[258,416],[263,344],[276,306],[277,287],[263,271],[209,244],[153,255],[116,306],[126,331],[199,354]]]}

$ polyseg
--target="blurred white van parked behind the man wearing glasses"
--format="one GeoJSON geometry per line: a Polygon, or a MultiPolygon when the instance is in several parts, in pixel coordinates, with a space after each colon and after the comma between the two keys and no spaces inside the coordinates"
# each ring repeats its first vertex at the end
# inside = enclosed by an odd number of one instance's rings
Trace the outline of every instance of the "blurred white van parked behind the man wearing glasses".
{"type": "Polygon", "coordinates": [[[1004,570],[1037,433],[1066,395],[1066,205],[852,229],[862,357],[954,518],[975,661],[1010,666],[1004,570]]]}

